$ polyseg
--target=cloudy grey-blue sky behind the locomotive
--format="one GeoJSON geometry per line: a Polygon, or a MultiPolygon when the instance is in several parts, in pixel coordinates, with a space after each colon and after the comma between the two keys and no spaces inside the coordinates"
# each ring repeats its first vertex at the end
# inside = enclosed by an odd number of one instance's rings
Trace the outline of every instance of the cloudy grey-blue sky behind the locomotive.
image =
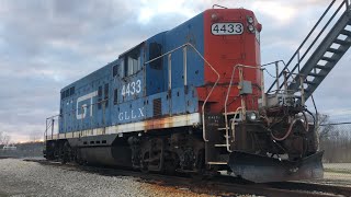
{"type": "MultiPolygon", "coordinates": [[[[288,60],[329,0],[1,0],[0,130],[13,141],[42,137],[63,86],[214,3],[256,13],[270,62],[288,60]]],[[[348,53],[315,92],[319,111],[350,114],[350,60],[348,53]]]]}

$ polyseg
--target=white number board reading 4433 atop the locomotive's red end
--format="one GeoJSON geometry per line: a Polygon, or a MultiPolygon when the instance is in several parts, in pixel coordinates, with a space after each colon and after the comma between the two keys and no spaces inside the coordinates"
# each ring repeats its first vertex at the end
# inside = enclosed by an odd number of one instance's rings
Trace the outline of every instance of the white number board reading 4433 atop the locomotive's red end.
{"type": "Polygon", "coordinates": [[[239,35],[244,32],[241,23],[214,23],[211,26],[213,35],[239,35]]]}

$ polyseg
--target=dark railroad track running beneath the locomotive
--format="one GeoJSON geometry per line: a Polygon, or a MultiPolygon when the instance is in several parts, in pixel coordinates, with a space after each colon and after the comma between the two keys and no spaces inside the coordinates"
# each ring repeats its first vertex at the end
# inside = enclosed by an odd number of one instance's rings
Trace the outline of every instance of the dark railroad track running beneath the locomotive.
{"type": "Polygon", "coordinates": [[[25,160],[37,162],[44,165],[55,165],[65,170],[83,171],[97,173],[106,176],[133,176],[140,178],[143,182],[158,184],[163,186],[176,186],[179,188],[189,188],[195,193],[204,193],[220,196],[242,195],[262,195],[262,196],[310,196],[310,197],[336,197],[351,196],[351,187],[325,185],[303,182],[282,182],[282,183],[265,183],[253,184],[242,182],[242,179],[218,176],[211,179],[197,179],[183,176],[169,176],[162,174],[146,174],[141,172],[101,167],[87,166],[77,164],[60,164],[59,162],[49,162],[46,160],[25,160]],[[204,189],[205,188],[205,189],[204,189]]]}

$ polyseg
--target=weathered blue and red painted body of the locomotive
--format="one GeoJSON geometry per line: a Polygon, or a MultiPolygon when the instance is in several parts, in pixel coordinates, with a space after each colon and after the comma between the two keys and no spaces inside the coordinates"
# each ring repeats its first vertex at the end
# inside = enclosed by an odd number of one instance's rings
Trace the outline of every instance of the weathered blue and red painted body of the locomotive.
{"type": "MultiPolygon", "coordinates": [[[[214,66],[220,81],[207,107],[211,113],[223,113],[233,67],[236,63],[260,65],[259,42],[256,34],[247,31],[248,15],[254,19],[253,13],[245,9],[207,10],[148,38],[111,63],[67,85],[61,90],[65,96],[60,101],[59,134],[72,132],[69,137],[79,137],[77,130],[87,130],[81,135],[88,135],[88,130],[100,128],[105,129],[99,134],[107,134],[115,127],[122,131],[170,128],[178,126],[177,117],[201,113],[202,101],[208,95],[216,74],[191,47],[174,50],[170,58],[162,57],[160,67],[144,63],[154,58],[150,57],[150,46],[155,43],[162,54],[190,43],[214,66]],[[216,20],[212,19],[214,13],[217,14],[216,20]],[[246,30],[240,35],[213,35],[211,26],[217,22],[242,23],[246,30]],[[123,62],[134,56],[140,62],[137,65],[139,70],[124,77],[123,62]],[[168,90],[169,85],[171,90],[168,90]]],[[[259,24],[256,19],[254,24],[259,24]]],[[[254,84],[253,94],[246,95],[246,100],[248,109],[256,109],[260,97],[260,74],[257,70],[247,69],[245,80],[254,84]]],[[[237,83],[236,74],[229,95],[229,100],[234,100],[228,106],[229,112],[235,112],[240,105],[240,101],[235,100],[238,96],[237,83]]]]}

